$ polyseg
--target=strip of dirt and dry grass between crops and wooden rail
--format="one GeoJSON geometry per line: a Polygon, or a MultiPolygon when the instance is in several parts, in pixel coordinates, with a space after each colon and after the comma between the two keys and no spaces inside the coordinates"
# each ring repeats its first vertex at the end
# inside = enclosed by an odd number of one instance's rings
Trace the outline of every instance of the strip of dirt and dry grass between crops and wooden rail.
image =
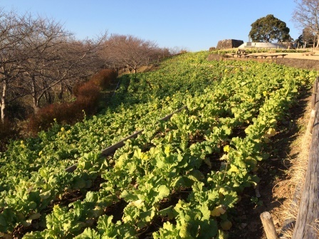
{"type": "Polygon", "coordinates": [[[231,231],[233,237],[230,238],[266,239],[260,220],[260,214],[265,211],[271,213],[276,230],[281,234],[283,225],[286,224],[287,208],[291,207],[295,196],[296,181],[291,180],[291,168],[299,160],[299,152],[304,150],[300,139],[310,115],[309,100],[309,94],[300,97],[298,105],[291,110],[291,120],[278,123],[279,133],[269,146],[273,148],[273,152],[259,166],[258,176],[261,182],[258,191],[248,189],[241,196],[239,207],[236,208],[238,219],[234,222],[234,230],[231,231]],[[258,193],[258,201],[251,201],[251,197],[257,197],[258,193]]]}

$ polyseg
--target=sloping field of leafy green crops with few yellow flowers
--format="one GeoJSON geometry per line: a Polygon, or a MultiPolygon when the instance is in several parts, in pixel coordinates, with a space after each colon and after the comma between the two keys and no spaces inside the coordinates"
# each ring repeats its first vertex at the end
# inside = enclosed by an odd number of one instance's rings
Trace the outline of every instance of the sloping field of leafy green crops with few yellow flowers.
{"type": "Polygon", "coordinates": [[[23,238],[224,238],[258,184],[277,122],[315,72],[253,61],[166,60],[121,78],[105,112],[53,124],[0,154],[0,232],[23,238]],[[167,121],[161,117],[186,105],[167,121]],[[133,132],[113,155],[104,149],[133,132]],[[73,173],[65,169],[73,164],[73,173]]]}

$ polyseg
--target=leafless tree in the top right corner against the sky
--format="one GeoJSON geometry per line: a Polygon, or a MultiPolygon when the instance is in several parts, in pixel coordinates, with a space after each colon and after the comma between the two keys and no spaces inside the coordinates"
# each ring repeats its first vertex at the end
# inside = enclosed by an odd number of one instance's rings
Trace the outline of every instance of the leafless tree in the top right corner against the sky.
{"type": "Polygon", "coordinates": [[[303,30],[308,28],[317,38],[319,46],[319,0],[295,0],[296,9],[292,21],[296,27],[303,30]]]}

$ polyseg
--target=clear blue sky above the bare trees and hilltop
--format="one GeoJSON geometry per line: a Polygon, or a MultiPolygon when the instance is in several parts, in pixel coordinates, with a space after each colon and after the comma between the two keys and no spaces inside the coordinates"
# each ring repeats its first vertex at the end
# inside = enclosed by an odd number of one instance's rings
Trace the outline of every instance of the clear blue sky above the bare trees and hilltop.
{"type": "Polygon", "coordinates": [[[0,0],[0,7],[53,18],[79,39],[108,31],[187,51],[248,41],[251,23],[268,14],[286,22],[292,38],[300,36],[293,0],[0,0]]]}

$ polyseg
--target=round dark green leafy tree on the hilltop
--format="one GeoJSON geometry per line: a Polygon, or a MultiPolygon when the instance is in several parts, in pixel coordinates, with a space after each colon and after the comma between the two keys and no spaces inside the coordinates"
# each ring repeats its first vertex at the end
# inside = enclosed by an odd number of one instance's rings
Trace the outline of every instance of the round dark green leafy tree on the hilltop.
{"type": "Polygon", "coordinates": [[[269,14],[258,18],[251,24],[249,37],[252,41],[271,42],[273,40],[289,41],[289,28],[286,23],[269,14]]]}

